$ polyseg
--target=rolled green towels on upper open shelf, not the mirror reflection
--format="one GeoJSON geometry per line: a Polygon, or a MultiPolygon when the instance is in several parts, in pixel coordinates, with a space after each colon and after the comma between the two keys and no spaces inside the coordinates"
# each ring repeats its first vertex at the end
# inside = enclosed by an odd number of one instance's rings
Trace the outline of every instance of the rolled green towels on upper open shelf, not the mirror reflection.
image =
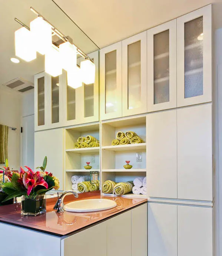
{"type": "Polygon", "coordinates": [[[143,143],[143,139],[140,138],[135,132],[117,132],[116,139],[112,141],[112,146],[143,143]]]}

